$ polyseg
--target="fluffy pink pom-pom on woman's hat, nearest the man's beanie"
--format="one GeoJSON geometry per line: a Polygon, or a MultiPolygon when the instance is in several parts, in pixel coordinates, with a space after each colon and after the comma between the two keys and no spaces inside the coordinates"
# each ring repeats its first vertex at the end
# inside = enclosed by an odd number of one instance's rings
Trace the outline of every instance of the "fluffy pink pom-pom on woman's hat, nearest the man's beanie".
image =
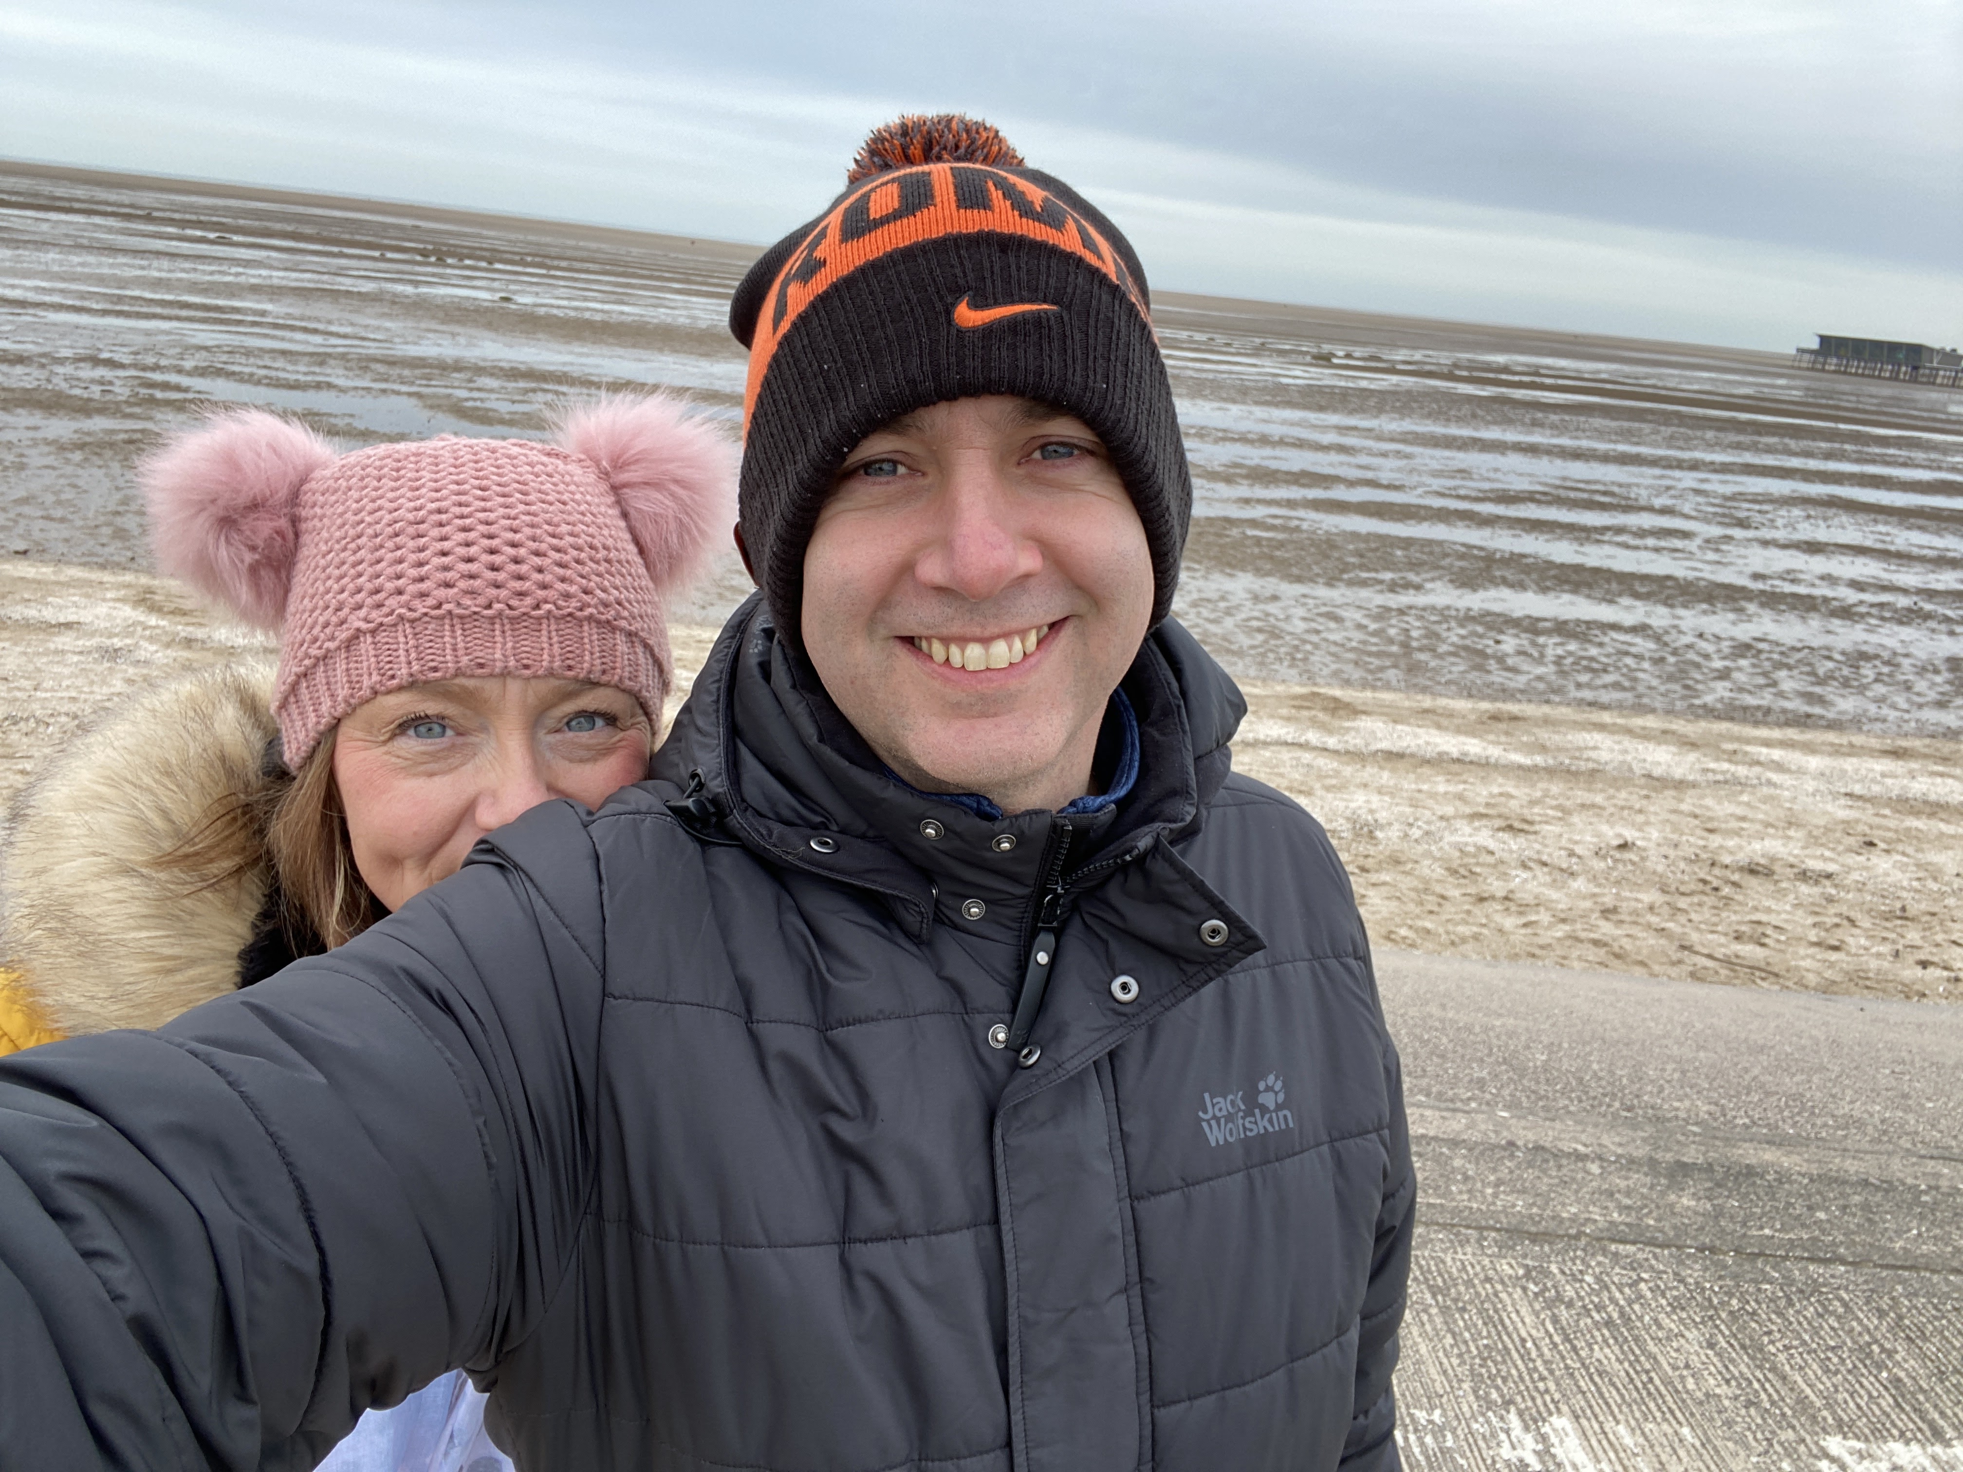
{"type": "Polygon", "coordinates": [[[607,394],[567,408],[557,440],[607,477],[662,597],[701,577],[736,522],[736,447],[722,430],[671,394],[607,394]]]}

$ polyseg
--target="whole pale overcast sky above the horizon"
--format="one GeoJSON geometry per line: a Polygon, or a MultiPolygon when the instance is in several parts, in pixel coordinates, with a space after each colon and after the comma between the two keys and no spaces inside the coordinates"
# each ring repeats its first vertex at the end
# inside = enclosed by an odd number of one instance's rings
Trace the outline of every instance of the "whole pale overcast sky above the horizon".
{"type": "Polygon", "coordinates": [[[768,241],[989,118],[1154,289],[1963,340],[1963,0],[8,0],[0,153],[768,241]]]}

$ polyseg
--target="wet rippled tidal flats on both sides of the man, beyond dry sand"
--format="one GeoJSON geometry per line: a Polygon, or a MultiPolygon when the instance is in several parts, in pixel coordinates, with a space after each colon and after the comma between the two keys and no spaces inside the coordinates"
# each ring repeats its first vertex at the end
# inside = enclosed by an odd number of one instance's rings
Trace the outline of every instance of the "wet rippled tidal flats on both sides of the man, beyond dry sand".
{"type": "MultiPolygon", "coordinates": [[[[139,565],[200,400],[349,442],[734,416],[746,247],[0,169],[0,548],[139,565]]],[[[1160,296],[1180,612],[1248,677],[1963,734],[1963,393],[1784,359],[1160,296]]],[[[1794,324],[1804,330],[1831,324],[1794,324]]],[[[722,579],[685,616],[715,618],[722,579]]]]}

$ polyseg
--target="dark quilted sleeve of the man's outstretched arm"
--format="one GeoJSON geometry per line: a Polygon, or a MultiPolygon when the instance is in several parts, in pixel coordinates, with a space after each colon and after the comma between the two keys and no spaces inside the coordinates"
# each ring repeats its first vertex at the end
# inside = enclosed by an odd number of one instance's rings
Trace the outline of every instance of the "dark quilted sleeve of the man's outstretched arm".
{"type": "Polygon", "coordinates": [[[0,1466],[312,1466],[524,1337],[587,1189],[601,924],[573,809],[514,830],[550,862],[0,1060],[0,1466]]]}

